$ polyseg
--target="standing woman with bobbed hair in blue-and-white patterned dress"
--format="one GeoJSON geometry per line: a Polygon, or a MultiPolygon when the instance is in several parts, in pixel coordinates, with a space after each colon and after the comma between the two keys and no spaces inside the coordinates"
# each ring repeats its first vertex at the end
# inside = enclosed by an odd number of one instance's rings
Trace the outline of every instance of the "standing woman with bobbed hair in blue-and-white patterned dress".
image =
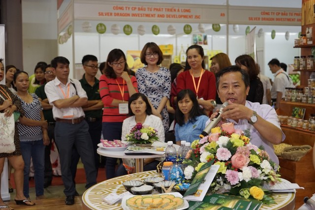
{"type": "Polygon", "coordinates": [[[138,90],[148,97],[152,113],[162,119],[164,130],[168,131],[166,102],[171,91],[171,73],[167,68],[159,66],[163,54],[154,42],[148,42],[143,47],[140,59],[146,66],[136,71],[138,90]]]}

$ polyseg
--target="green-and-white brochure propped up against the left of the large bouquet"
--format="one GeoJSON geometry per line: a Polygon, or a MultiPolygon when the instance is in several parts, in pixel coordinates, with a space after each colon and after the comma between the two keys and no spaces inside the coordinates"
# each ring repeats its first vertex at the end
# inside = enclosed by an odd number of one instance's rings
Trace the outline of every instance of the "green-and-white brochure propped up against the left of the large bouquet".
{"type": "Polygon", "coordinates": [[[202,201],[205,197],[211,182],[215,178],[220,166],[212,165],[214,160],[204,164],[193,178],[187,189],[184,199],[189,201],[202,201]]]}

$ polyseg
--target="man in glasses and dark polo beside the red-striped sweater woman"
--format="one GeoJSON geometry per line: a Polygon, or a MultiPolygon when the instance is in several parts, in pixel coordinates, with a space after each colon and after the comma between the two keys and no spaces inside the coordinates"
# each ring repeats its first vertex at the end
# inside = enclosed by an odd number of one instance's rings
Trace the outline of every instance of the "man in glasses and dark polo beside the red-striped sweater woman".
{"type": "MultiPolygon", "coordinates": [[[[93,143],[95,167],[97,170],[100,158],[96,150],[98,148],[97,144],[100,143],[102,133],[102,108],[104,107],[99,95],[99,80],[95,77],[98,71],[97,58],[93,55],[86,55],[82,59],[82,65],[85,74],[83,74],[80,82],[82,88],[86,91],[88,96],[88,104],[82,108],[85,114],[85,120],[89,124],[89,133],[93,143]]],[[[78,152],[73,151],[72,157],[73,164],[71,163],[71,173],[74,179],[76,166],[79,160],[78,152]]]]}

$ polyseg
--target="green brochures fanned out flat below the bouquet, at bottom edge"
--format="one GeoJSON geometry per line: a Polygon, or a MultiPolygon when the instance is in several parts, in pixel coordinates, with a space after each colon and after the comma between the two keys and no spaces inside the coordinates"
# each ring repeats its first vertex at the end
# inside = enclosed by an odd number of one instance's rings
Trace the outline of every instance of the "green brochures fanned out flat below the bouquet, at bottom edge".
{"type": "Polygon", "coordinates": [[[189,201],[189,210],[217,209],[220,206],[224,207],[222,210],[256,210],[257,203],[252,207],[251,205],[251,200],[225,194],[212,194],[205,196],[202,202],[189,201]]]}

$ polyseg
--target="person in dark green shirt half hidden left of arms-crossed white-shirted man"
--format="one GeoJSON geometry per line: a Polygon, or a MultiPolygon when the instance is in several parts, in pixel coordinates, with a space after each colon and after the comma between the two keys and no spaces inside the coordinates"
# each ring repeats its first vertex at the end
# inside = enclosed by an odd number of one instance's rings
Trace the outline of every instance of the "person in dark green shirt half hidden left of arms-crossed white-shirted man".
{"type": "Polygon", "coordinates": [[[54,80],[56,77],[55,72],[51,70],[50,64],[45,67],[45,79],[46,83],[35,90],[35,94],[38,96],[41,105],[43,106],[43,114],[45,120],[48,122],[48,137],[50,140],[49,145],[45,147],[45,171],[44,171],[44,188],[51,185],[51,181],[53,179],[53,169],[50,161],[50,150],[52,140],[55,139],[55,123],[53,117],[53,106],[51,106],[48,102],[47,95],[45,93],[45,85],[54,80]]]}

